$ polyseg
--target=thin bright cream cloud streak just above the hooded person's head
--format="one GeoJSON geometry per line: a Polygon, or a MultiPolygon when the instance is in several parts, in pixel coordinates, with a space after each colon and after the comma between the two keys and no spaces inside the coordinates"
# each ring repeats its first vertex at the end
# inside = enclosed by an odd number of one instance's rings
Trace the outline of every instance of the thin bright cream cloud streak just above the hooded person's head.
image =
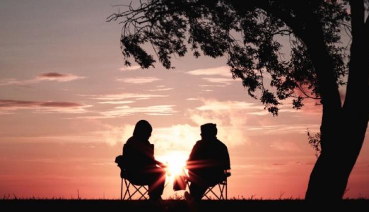
{"type": "Polygon", "coordinates": [[[100,114],[108,117],[128,116],[136,113],[143,113],[153,116],[168,116],[172,115],[173,113],[177,113],[177,111],[175,111],[173,107],[174,105],[153,105],[147,107],[131,107],[128,105],[124,105],[101,112],[100,114]]]}

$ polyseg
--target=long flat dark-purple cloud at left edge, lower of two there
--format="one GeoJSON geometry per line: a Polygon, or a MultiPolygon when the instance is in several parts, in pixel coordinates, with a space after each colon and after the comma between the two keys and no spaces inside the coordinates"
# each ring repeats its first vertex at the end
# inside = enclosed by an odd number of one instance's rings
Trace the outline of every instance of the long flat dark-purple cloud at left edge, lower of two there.
{"type": "Polygon", "coordinates": [[[38,112],[60,112],[60,113],[85,113],[85,108],[91,105],[83,105],[75,102],[55,101],[24,101],[24,100],[0,100],[1,111],[14,111],[19,109],[32,109],[38,112]]]}

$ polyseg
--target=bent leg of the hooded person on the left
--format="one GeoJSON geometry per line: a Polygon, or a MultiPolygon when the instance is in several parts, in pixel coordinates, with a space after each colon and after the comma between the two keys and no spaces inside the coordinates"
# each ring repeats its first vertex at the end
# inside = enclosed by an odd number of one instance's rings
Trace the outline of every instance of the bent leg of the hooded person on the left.
{"type": "Polygon", "coordinates": [[[150,199],[160,199],[165,186],[165,175],[164,169],[156,167],[151,169],[147,174],[149,179],[149,196],[150,199]]]}

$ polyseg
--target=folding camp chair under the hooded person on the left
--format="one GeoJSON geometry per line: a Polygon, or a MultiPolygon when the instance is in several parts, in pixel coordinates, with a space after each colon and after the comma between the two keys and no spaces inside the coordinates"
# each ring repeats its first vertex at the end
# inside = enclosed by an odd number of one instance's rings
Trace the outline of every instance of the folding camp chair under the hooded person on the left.
{"type": "MultiPolygon", "coordinates": [[[[127,153],[127,147],[124,144],[123,145],[123,154],[127,153]]],[[[150,146],[150,154],[154,155],[154,144],[151,144],[150,146]]],[[[119,155],[115,159],[115,163],[118,164],[118,167],[121,168],[121,200],[132,200],[135,195],[138,198],[138,200],[147,200],[148,199],[148,192],[149,188],[148,185],[141,185],[141,184],[133,184],[127,179],[127,173],[125,169],[125,158],[123,155],[119,155]],[[125,188],[125,193],[123,196],[123,188],[125,188]],[[130,189],[131,188],[131,189],[130,189]],[[127,197],[127,199],[126,199],[127,197]]]]}

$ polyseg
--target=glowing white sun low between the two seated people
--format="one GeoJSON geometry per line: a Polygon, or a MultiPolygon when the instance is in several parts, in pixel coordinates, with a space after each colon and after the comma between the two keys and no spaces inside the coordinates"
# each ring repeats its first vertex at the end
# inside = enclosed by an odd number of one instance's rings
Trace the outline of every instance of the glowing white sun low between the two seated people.
{"type": "Polygon", "coordinates": [[[168,165],[167,175],[172,178],[184,174],[187,159],[188,156],[183,152],[176,151],[170,152],[161,157],[161,161],[168,165]]]}

